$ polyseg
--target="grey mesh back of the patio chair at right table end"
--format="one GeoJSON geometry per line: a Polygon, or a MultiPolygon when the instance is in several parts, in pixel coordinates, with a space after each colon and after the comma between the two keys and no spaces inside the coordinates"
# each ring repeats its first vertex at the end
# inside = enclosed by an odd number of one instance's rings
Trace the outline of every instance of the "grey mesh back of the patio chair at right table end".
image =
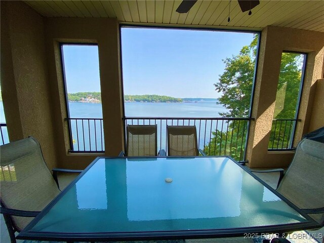
{"type": "MultiPolygon", "coordinates": [[[[324,143],[303,139],[277,191],[300,209],[324,207],[324,143]]],[[[318,223],[324,214],[310,215],[318,223]]]]}

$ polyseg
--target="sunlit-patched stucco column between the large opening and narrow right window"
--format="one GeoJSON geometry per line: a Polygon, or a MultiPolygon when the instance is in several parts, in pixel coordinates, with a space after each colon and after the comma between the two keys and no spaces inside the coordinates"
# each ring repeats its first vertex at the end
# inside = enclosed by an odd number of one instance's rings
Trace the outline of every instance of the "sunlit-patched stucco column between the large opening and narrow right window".
{"type": "Polygon", "coordinates": [[[247,147],[248,165],[252,168],[267,167],[263,161],[265,161],[268,152],[280,62],[281,50],[276,48],[276,40],[273,36],[268,35],[268,28],[265,28],[261,33],[252,107],[252,117],[255,120],[251,123],[247,147]]]}

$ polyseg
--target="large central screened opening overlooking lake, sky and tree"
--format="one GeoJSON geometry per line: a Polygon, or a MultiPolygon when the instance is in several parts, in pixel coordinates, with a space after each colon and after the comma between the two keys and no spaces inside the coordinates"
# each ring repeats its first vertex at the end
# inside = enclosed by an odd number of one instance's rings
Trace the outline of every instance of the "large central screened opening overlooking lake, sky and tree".
{"type": "MultiPolygon", "coordinates": [[[[245,160],[259,34],[121,27],[125,127],[195,126],[207,155],[245,160]]],[[[127,136],[127,135],[125,135],[127,136]]]]}

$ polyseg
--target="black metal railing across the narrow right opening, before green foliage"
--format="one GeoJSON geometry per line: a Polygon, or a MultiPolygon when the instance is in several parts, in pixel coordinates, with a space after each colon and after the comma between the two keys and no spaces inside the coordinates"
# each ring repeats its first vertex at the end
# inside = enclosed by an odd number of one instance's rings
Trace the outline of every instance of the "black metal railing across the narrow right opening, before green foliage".
{"type": "Polygon", "coordinates": [[[291,150],[297,121],[300,119],[273,119],[268,150],[291,150]]]}

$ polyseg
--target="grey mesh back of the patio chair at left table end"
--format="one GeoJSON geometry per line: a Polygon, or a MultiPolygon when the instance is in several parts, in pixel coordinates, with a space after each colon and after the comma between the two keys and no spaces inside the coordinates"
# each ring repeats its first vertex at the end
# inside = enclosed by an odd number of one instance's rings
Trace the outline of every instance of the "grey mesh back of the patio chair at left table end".
{"type": "MultiPolygon", "coordinates": [[[[1,203],[10,209],[42,211],[59,194],[41,147],[26,138],[0,147],[1,203]]],[[[12,216],[21,231],[33,218],[12,216]]]]}

